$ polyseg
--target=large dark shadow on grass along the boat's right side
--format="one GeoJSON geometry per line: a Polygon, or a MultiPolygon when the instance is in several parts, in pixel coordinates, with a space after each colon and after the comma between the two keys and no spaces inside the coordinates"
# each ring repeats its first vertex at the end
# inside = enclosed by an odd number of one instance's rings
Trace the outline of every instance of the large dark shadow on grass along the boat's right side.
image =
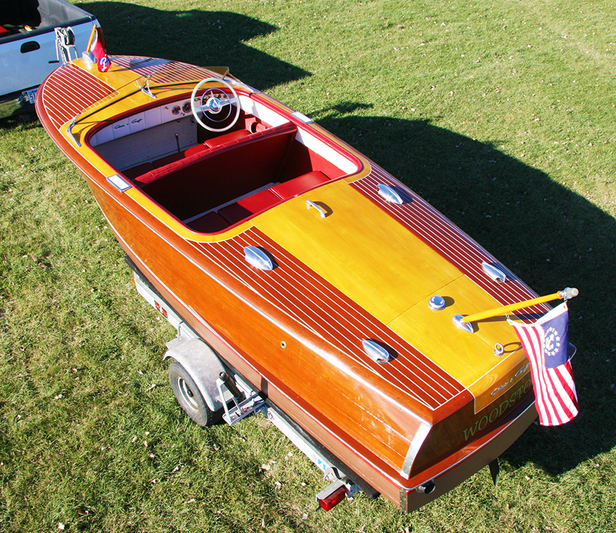
{"type": "Polygon", "coordinates": [[[539,294],[580,289],[569,304],[580,415],[559,428],[532,426],[503,458],[558,474],[614,447],[615,220],[491,144],[428,120],[345,116],[338,107],[315,118],[421,194],[539,294]]]}

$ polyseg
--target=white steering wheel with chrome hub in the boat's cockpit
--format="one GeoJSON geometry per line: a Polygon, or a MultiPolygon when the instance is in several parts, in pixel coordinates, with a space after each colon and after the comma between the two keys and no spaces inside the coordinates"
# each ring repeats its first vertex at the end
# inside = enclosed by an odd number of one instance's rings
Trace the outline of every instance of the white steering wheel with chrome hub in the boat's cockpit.
{"type": "Polygon", "coordinates": [[[209,129],[209,131],[227,131],[227,129],[233,127],[235,122],[238,122],[238,117],[240,116],[240,99],[235,90],[233,90],[231,83],[228,81],[224,81],[224,79],[220,78],[206,78],[199,81],[192,90],[190,108],[192,109],[195,120],[205,129],[209,129]],[[198,104],[195,104],[197,91],[201,89],[205,83],[211,82],[222,83],[224,88],[227,88],[231,94],[225,92],[222,88],[210,87],[203,92],[201,99],[198,100],[198,104]],[[233,109],[235,109],[235,116],[233,116],[233,109]],[[203,113],[203,119],[207,119],[209,125],[199,118],[200,113],[203,113]],[[231,122],[218,127],[218,125],[227,122],[230,117],[232,117],[231,122]]]}

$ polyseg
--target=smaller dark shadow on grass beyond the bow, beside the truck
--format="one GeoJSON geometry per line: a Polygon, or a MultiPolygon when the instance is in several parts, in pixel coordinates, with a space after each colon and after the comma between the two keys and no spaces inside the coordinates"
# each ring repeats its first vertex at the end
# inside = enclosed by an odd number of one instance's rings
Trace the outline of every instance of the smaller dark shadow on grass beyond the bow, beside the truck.
{"type": "Polygon", "coordinates": [[[306,70],[247,46],[277,27],[224,11],[162,11],[120,2],[78,3],[99,19],[108,53],[144,55],[200,66],[229,66],[231,73],[264,90],[310,75],[306,70]]]}

